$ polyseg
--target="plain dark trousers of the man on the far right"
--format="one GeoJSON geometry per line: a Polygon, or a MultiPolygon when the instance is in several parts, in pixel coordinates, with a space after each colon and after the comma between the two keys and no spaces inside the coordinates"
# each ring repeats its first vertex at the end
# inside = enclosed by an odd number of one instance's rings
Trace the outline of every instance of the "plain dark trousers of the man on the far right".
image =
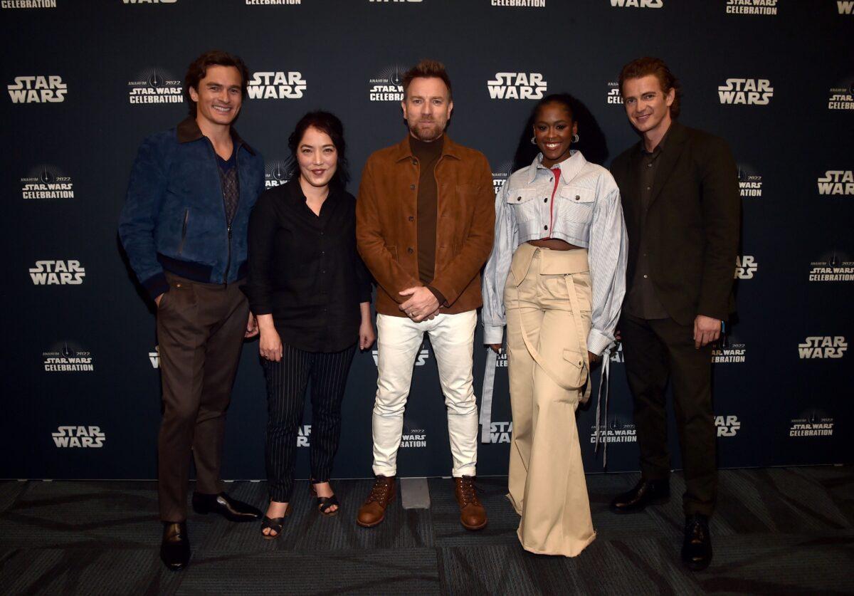
{"type": "Polygon", "coordinates": [[[686,491],[686,515],[711,515],[717,498],[717,432],[711,408],[711,345],[694,348],[693,325],[671,318],[620,321],[629,389],[635,400],[640,470],[650,480],[670,475],[664,390],[673,386],[673,407],[686,491]]]}

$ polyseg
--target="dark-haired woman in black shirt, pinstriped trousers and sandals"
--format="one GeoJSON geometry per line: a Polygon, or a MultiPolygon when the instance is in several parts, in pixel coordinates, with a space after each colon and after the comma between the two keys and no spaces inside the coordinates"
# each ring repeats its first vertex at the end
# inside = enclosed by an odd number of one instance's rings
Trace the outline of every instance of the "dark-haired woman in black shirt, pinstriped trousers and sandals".
{"type": "Polygon", "coordinates": [[[246,292],[260,327],[269,421],[270,506],[261,532],[282,531],[293,488],[296,435],[312,384],[312,491],[334,515],[329,485],[341,401],[356,344],[370,348],[371,278],[356,252],[355,199],[345,190],[345,143],[332,114],[303,116],[290,135],[294,178],[266,190],[249,219],[246,292]]]}

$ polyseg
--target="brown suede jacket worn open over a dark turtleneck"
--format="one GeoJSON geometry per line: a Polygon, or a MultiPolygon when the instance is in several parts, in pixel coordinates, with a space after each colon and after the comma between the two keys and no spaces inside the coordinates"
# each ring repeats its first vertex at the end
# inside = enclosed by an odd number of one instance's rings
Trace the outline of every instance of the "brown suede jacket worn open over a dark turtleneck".
{"type": "MultiPolygon", "coordinates": [[[[495,193],[486,157],[444,137],[436,163],[436,277],[439,312],[465,313],[483,304],[480,272],[492,250],[495,193]]],[[[409,138],[374,152],[356,201],[356,241],[377,280],[377,313],[405,317],[399,292],[418,279],[418,161],[409,138]]]]}

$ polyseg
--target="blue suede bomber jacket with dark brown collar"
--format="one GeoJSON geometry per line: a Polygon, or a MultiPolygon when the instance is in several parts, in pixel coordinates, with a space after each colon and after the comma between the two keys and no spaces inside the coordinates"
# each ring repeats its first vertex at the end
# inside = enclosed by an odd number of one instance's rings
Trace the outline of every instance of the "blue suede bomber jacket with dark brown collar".
{"type": "Polygon", "coordinates": [[[264,190],[264,160],[232,129],[240,198],[228,225],[213,144],[192,117],[139,147],[119,236],[152,298],[168,291],[164,270],[206,283],[246,276],[249,213],[264,190]]]}

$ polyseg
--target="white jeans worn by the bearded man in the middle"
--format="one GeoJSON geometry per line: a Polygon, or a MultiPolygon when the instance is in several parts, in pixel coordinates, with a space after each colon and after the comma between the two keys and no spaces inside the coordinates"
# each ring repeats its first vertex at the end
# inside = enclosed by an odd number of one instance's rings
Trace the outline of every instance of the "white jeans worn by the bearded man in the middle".
{"type": "Polygon", "coordinates": [[[413,322],[406,317],[377,314],[377,400],[373,410],[373,471],[397,475],[397,449],[403,434],[403,410],[412,383],[412,366],[424,331],[439,365],[439,381],[447,406],[447,434],[453,457],[452,474],[475,476],[477,466],[477,403],[471,386],[472,350],[477,312],[439,314],[413,322]]]}

